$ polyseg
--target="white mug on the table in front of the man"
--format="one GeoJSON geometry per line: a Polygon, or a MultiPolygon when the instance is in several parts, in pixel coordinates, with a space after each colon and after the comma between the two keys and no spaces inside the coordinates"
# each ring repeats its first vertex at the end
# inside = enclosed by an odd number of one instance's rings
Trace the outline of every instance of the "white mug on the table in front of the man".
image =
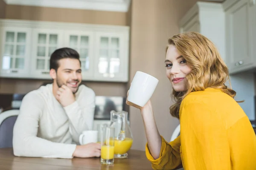
{"type": "Polygon", "coordinates": [[[87,143],[96,143],[98,138],[98,131],[97,130],[85,130],[79,136],[79,143],[80,144],[87,144],[87,143]]]}

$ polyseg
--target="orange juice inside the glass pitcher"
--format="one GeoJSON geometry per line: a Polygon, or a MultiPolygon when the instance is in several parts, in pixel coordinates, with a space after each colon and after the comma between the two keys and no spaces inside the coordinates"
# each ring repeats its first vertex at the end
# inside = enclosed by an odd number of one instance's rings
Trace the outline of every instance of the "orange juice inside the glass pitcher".
{"type": "Polygon", "coordinates": [[[115,139],[115,154],[124,154],[131,148],[133,140],[131,138],[125,138],[123,141],[115,139]]]}

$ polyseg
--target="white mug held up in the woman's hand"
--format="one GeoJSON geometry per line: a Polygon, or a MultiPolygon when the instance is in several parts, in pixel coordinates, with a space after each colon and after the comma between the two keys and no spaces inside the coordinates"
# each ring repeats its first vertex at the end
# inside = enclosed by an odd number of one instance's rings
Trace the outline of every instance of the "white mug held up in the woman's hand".
{"type": "Polygon", "coordinates": [[[158,82],[155,77],[137,71],[131,82],[128,101],[143,107],[151,98],[158,82]]]}

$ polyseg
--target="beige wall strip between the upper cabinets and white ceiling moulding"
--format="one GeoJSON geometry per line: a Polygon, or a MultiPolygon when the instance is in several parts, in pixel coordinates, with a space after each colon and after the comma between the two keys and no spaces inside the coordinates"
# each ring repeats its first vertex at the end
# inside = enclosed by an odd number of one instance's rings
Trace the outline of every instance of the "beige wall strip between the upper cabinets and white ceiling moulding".
{"type": "Polygon", "coordinates": [[[92,11],[37,6],[7,5],[6,18],[17,20],[39,20],[119,26],[127,25],[125,12],[92,11]]]}

